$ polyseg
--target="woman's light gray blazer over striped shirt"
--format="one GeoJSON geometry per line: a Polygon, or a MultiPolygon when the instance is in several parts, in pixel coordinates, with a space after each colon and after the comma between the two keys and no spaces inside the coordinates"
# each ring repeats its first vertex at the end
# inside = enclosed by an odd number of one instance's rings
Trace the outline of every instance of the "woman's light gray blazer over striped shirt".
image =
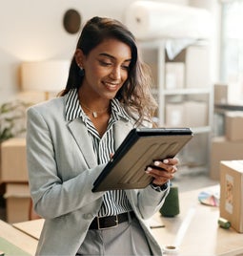
{"type": "MultiPolygon", "coordinates": [[[[132,121],[115,123],[116,148],[132,127],[132,121]]],[[[81,118],[66,120],[65,96],[30,107],[27,128],[30,194],[35,211],[45,218],[36,255],[75,255],[101,206],[104,192],[91,188],[105,165],[97,165],[81,118]]],[[[167,193],[151,186],[126,191],[154,255],[161,255],[161,248],[145,220],[167,193]]]]}

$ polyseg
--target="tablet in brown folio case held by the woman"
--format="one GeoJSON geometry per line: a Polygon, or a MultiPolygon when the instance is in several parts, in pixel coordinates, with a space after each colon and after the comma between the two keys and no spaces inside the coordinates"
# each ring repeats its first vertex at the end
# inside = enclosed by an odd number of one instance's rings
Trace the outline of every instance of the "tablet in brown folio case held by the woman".
{"type": "Polygon", "coordinates": [[[192,139],[190,128],[134,128],[93,183],[92,192],[144,188],[153,160],[173,158],[192,139]]]}

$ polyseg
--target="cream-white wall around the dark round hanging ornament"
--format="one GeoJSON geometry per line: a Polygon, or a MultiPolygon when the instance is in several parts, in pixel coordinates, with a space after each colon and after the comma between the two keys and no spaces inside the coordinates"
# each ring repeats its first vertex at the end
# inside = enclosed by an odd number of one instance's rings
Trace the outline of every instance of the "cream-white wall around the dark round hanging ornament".
{"type": "MultiPolygon", "coordinates": [[[[71,58],[79,34],[65,32],[62,24],[65,11],[80,11],[83,21],[94,15],[122,20],[133,1],[0,0],[0,103],[19,92],[18,72],[22,61],[71,58]]],[[[157,1],[189,3],[188,0],[157,1]]]]}

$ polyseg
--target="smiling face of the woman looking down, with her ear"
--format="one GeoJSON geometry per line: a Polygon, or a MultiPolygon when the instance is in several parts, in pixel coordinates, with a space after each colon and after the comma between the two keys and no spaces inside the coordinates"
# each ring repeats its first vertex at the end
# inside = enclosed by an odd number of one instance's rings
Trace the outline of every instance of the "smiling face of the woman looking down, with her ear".
{"type": "Polygon", "coordinates": [[[131,48],[117,40],[107,39],[88,55],[76,52],[76,61],[85,70],[81,90],[93,97],[113,98],[129,75],[131,48]]]}

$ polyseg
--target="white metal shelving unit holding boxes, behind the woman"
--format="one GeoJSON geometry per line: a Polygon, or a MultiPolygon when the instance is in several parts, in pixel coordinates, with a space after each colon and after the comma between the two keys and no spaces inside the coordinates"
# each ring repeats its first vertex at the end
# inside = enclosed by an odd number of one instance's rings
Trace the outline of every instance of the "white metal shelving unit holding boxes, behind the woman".
{"type": "Polygon", "coordinates": [[[213,130],[209,44],[195,43],[172,59],[166,40],[139,42],[139,47],[152,71],[152,93],[158,102],[154,121],[160,127],[191,127],[194,138],[178,156],[181,165],[208,171],[213,130]]]}

